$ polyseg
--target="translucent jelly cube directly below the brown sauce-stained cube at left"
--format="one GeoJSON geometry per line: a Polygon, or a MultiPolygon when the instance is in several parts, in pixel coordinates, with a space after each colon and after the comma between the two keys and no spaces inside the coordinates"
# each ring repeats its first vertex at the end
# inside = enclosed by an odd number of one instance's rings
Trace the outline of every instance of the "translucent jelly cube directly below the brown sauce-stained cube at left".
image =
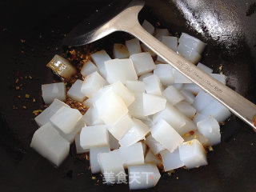
{"type": "Polygon", "coordinates": [[[66,100],[66,86],[64,82],[42,85],[42,98],[46,105],[52,103],[54,98],[64,102],[66,100]]]}

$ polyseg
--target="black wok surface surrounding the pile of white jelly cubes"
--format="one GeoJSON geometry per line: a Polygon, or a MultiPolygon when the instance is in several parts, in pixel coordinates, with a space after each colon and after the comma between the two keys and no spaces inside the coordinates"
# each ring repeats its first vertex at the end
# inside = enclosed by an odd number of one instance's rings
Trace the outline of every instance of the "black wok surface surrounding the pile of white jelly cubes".
{"type": "MultiPolygon", "coordinates": [[[[116,3],[114,0],[0,2],[3,9],[0,13],[1,191],[129,191],[123,184],[106,186],[97,182],[100,175],[92,179],[89,162],[75,154],[74,144],[69,157],[58,168],[30,149],[31,138],[38,129],[33,111],[44,109],[41,84],[59,81],[46,69],[46,63],[54,54],[65,56],[67,47],[62,46],[62,38],[78,22],[109,4],[113,10],[116,3]],[[20,77],[23,80],[16,83],[20,77]],[[16,86],[20,89],[16,90],[16,86]],[[30,98],[25,98],[25,94],[30,94],[30,98]]],[[[253,1],[149,0],[146,5],[139,15],[141,20],[146,18],[155,25],[160,22],[172,34],[186,32],[207,42],[202,63],[215,73],[222,64],[227,85],[256,102],[253,1]]],[[[114,33],[96,42],[94,47],[110,52],[113,42],[123,40],[122,33],[114,33]]],[[[208,154],[209,166],[177,170],[171,176],[164,173],[150,191],[255,191],[254,131],[234,116],[221,130],[222,143],[208,154]]]]}

